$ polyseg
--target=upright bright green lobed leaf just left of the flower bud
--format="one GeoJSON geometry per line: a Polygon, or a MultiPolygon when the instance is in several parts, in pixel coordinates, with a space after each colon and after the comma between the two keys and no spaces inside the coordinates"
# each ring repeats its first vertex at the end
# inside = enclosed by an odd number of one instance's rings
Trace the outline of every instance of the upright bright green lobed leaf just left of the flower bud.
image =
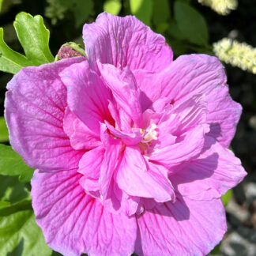
{"type": "Polygon", "coordinates": [[[43,24],[43,17],[21,12],[13,25],[26,57],[34,66],[55,60],[49,49],[50,32],[43,24]]]}

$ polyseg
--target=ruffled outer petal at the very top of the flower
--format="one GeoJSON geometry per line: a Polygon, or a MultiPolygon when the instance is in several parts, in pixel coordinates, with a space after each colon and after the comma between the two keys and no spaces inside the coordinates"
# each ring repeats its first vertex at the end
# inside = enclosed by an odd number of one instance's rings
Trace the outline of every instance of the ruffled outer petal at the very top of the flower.
{"type": "Polygon", "coordinates": [[[130,70],[160,71],[172,61],[171,47],[164,37],[152,32],[136,17],[101,13],[96,22],[83,29],[85,51],[96,67],[96,60],[130,70]]]}

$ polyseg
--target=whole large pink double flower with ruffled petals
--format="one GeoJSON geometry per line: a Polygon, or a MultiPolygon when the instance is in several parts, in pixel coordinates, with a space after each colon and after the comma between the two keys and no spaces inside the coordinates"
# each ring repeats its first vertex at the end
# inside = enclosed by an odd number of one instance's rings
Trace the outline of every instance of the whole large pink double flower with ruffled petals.
{"type": "Polygon", "coordinates": [[[228,150],[241,107],[224,67],[135,17],[85,24],[87,58],[8,84],[10,142],[36,168],[32,206],[64,255],[202,255],[226,232],[220,196],[246,172],[228,150]]]}

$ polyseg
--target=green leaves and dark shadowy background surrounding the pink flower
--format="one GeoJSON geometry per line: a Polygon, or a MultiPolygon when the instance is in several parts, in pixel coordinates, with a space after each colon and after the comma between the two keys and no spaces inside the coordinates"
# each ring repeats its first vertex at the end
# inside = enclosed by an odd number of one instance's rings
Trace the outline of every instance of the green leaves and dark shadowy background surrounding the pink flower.
{"type": "MultiPolygon", "coordinates": [[[[238,9],[225,17],[207,6],[201,6],[199,2],[203,1],[0,0],[0,27],[3,27],[0,28],[0,70],[6,72],[0,73],[0,116],[3,115],[6,83],[13,73],[23,66],[39,66],[54,61],[63,43],[73,41],[83,45],[83,24],[95,21],[96,16],[104,10],[120,16],[137,16],[155,32],[165,36],[175,58],[194,52],[214,55],[213,43],[224,37],[256,46],[254,0],[240,1],[238,9]]],[[[243,209],[248,213],[247,218],[239,218],[227,205],[229,229],[224,237],[226,240],[234,229],[237,232],[240,227],[247,228],[248,233],[248,230],[254,232],[256,228],[256,192],[249,193],[249,196],[247,192],[250,184],[256,190],[255,76],[232,66],[227,66],[227,73],[232,97],[243,105],[243,115],[232,149],[243,161],[249,175],[233,193],[228,191],[223,198],[224,205],[235,204],[237,211],[243,209]],[[234,216],[238,219],[235,224],[234,216]]],[[[0,143],[0,255],[58,255],[47,247],[36,225],[29,196],[33,170],[10,148],[3,117],[0,117],[0,143]]],[[[254,234],[256,239],[256,233],[250,234],[254,234]]],[[[246,235],[242,236],[247,239],[246,235]]],[[[247,240],[248,243],[252,242],[247,240]]],[[[223,244],[216,247],[212,254],[227,254],[225,241],[223,244]]],[[[243,244],[239,246],[243,247],[243,244]]],[[[235,253],[232,255],[242,255],[239,250],[235,253]]]]}

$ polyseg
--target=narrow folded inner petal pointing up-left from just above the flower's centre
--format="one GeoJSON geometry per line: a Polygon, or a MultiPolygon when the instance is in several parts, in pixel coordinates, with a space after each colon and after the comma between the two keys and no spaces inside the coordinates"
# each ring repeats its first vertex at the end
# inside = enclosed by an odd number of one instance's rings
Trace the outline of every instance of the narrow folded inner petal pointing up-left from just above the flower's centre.
{"type": "Polygon", "coordinates": [[[142,119],[140,90],[137,88],[133,73],[127,67],[121,70],[110,64],[99,63],[99,68],[116,103],[130,116],[130,119],[134,120],[135,125],[140,127],[142,119]]]}

